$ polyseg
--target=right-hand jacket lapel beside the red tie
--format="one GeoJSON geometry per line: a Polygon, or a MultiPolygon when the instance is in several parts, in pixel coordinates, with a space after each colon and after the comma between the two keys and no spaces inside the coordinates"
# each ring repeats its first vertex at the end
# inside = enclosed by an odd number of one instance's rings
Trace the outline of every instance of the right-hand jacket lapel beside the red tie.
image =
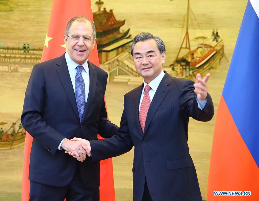
{"type": "Polygon", "coordinates": [[[167,72],[165,72],[165,75],[164,75],[163,79],[161,80],[161,82],[160,82],[160,84],[157,88],[157,91],[156,91],[156,93],[153,97],[153,100],[152,100],[152,102],[149,106],[148,113],[147,113],[147,116],[146,116],[144,134],[145,134],[153,116],[155,115],[155,112],[157,111],[157,108],[159,107],[159,105],[161,104],[161,102],[165,98],[166,94],[170,90],[170,88],[167,87],[169,84],[171,84],[170,79],[171,79],[170,75],[167,72]]]}

